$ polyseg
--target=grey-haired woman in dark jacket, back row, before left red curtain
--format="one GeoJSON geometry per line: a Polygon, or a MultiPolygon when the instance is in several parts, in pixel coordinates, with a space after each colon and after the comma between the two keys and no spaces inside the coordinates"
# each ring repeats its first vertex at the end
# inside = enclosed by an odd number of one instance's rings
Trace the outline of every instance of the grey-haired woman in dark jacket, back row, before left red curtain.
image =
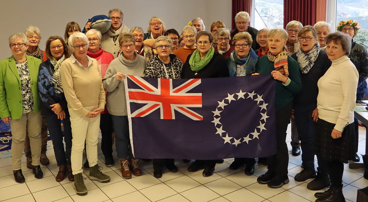
{"type": "Polygon", "coordinates": [[[239,13],[237,13],[235,15],[235,24],[236,24],[236,28],[231,30],[230,32],[230,36],[231,38],[233,38],[238,32],[248,32],[250,33],[250,35],[252,36],[252,49],[253,50],[257,50],[259,49],[259,45],[256,41],[256,36],[257,36],[257,32],[258,30],[255,28],[252,28],[250,25],[250,20],[251,17],[249,16],[249,14],[245,11],[240,11],[239,13]]]}

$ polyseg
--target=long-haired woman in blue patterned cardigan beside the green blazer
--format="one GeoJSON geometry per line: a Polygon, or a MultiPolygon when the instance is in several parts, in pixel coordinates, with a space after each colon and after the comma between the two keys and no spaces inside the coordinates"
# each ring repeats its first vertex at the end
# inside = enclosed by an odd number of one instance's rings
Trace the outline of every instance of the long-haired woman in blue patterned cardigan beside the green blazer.
{"type": "Polygon", "coordinates": [[[46,118],[57,166],[59,166],[59,172],[55,178],[57,182],[60,182],[67,174],[69,181],[74,181],[70,161],[72,139],[70,114],[60,83],[60,65],[70,56],[63,38],[50,36],[47,39],[46,56],[49,60],[41,63],[39,67],[38,89],[42,101],[41,113],[46,118]],[[63,120],[64,133],[61,131],[60,120],[63,120]]]}

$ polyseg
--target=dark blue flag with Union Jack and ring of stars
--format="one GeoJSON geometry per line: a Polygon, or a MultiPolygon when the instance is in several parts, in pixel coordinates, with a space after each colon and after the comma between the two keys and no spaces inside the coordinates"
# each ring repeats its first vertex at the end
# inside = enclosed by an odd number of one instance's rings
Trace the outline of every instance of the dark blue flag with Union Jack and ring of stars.
{"type": "Polygon", "coordinates": [[[276,153],[275,81],[270,75],[156,79],[128,75],[135,157],[223,159],[276,153]]]}

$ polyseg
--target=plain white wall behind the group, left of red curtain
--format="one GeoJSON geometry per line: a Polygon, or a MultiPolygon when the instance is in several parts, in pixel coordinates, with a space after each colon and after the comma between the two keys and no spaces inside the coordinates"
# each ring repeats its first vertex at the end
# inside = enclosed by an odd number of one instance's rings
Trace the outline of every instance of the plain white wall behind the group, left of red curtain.
{"type": "Polygon", "coordinates": [[[49,36],[60,35],[64,38],[68,22],[75,21],[83,27],[88,18],[108,15],[111,8],[123,11],[123,24],[129,28],[141,26],[146,30],[153,16],[160,17],[167,29],[174,28],[179,33],[195,17],[204,20],[206,31],[217,20],[231,28],[231,0],[1,0],[0,60],[11,56],[8,37],[14,32],[24,32],[29,25],[38,26],[42,33],[40,48],[45,50],[49,36]]]}

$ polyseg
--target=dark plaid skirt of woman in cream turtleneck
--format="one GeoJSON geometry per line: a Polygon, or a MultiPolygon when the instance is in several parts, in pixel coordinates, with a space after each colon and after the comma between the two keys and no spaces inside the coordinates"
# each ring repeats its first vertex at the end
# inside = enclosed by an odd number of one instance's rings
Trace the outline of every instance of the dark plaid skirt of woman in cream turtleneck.
{"type": "Polygon", "coordinates": [[[354,123],[348,124],[340,138],[333,139],[331,132],[336,124],[329,123],[325,120],[318,119],[316,137],[315,137],[315,153],[326,161],[339,161],[348,163],[348,160],[354,159],[355,156],[355,129],[354,123]]]}

